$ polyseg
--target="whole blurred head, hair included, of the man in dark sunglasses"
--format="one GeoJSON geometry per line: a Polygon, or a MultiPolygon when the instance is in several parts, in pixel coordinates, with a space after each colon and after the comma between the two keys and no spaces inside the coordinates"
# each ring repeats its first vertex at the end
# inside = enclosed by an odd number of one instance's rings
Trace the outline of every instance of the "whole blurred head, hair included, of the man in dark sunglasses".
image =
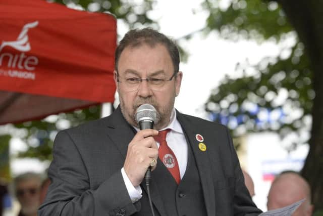
{"type": "Polygon", "coordinates": [[[26,172],[14,180],[15,194],[21,205],[18,216],[37,216],[42,179],[35,172],[26,172]]]}

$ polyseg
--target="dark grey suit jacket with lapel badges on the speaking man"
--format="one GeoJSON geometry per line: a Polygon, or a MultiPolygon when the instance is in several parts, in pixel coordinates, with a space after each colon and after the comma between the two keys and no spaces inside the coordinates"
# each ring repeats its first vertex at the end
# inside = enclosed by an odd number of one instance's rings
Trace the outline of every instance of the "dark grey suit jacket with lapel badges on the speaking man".
{"type": "MultiPolygon", "coordinates": [[[[244,185],[227,128],[181,113],[177,117],[196,160],[207,215],[261,213],[244,185]],[[196,134],[203,136],[206,151],[199,149],[196,134]]],[[[61,131],[48,169],[52,184],[38,214],[151,215],[145,187],[142,185],[141,200],[132,203],[121,175],[133,136],[120,108],[108,117],[61,131]]],[[[163,200],[153,179],[154,172],[150,183],[152,202],[157,214],[165,216],[163,200]]]]}

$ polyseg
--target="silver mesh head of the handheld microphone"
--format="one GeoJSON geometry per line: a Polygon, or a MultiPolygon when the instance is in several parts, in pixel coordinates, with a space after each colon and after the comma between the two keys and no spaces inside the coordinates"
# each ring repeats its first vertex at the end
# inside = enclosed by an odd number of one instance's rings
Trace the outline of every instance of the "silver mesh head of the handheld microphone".
{"type": "Polygon", "coordinates": [[[156,109],[150,104],[142,104],[136,112],[136,121],[140,129],[152,129],[153,124],[157,123],[156,109]]]}

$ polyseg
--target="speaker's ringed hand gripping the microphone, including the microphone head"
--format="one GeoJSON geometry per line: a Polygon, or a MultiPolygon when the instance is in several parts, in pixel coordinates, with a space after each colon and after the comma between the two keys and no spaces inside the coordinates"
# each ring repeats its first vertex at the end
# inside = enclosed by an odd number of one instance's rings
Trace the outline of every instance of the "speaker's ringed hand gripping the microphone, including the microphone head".
{"type": "Polygon", "coordinates": [[[138,186],[147,169],[155,169],[158,158],[158,148],[153,136],[158,134],[153,128],[156,122],[156,110],[150,104],[143,104],[137,109],[136,120],[140,130],[129,143],[126,160],[124,163],[125,172],[133,186],[138,186]]]}

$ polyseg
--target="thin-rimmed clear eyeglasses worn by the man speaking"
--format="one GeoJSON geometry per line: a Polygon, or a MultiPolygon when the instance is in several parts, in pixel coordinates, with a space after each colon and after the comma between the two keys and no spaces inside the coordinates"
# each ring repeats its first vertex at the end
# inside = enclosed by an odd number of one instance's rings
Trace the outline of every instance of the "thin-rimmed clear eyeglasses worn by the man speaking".
{"type": "Polygon", "coordinates": [[[138,78],[138,77],[117,77],[117,82],[121,82],[125,85],[125,88],[127,91],[132,92],[132,91],[137,91],[139,89],[139,86],[141,84],[142,81],[147,81],[149,88],[151,90],[155,90],[155,91],[160,91],[163,90],[165,84],[167,81],[171,81],[174,76],[176,76],[176,72],[173,73],[173,75],[169,78],[169,79],[161,79],[161,78],[155,78],[155,77],[151,77],[151,78],[146,78],[146,79],[142,79],[142,78],[138,78]]]}

